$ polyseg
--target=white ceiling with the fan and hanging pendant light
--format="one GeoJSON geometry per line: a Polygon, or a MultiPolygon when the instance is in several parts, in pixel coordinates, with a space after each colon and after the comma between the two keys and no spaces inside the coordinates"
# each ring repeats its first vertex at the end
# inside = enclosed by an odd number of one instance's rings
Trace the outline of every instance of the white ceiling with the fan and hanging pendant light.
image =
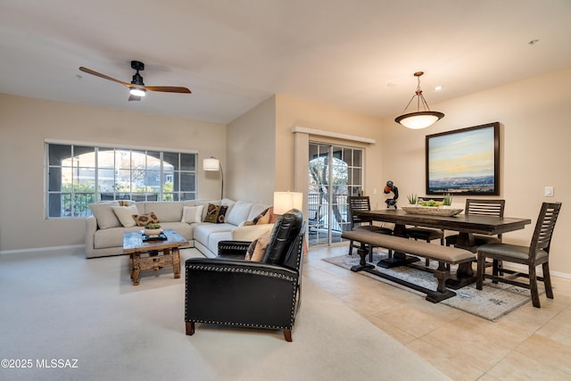
{"type": "Polygon", "coordinates": [[[385,117],[415,71],[438,104],[571,67],[570,37],[569,0],[0,0],[0,93],[223,124],[273,94],[385,117]],[[131,60],[193,94],[128,102],[79,71],[130,82],[131,60]]]}

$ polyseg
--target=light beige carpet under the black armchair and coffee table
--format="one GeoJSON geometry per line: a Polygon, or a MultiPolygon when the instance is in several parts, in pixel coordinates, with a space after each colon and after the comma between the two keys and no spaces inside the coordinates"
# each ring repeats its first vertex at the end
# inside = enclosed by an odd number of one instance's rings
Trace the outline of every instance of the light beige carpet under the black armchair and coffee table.
{"type": "Polygon", "coordinates": [[[3,361],[0,379],[448,379],[307,280],[293,343],[282,332],[203,325],[186,336],[182,274],[147,271],[131,286],[124,256],[0,256],[0,359],[31,364],[3,361]],[[52,360],[77,368],[39,367],[52,360]]]}

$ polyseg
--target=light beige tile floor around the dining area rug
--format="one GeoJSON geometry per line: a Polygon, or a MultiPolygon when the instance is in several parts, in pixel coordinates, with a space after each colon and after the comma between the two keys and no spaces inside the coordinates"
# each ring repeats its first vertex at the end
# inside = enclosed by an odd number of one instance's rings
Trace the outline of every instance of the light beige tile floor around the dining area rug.
{"type": "Polygon", "coordinates": [[[452,379],[571,380],[571,279],[491,322],[322,261],[347,251],[312,248],[304,275],[452,379]]]}

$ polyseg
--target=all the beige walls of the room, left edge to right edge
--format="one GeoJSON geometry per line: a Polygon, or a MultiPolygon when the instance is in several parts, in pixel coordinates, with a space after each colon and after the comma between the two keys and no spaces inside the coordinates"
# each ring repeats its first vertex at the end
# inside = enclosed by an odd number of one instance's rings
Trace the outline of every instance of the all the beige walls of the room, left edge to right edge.
{"type": "MultiPolygon", "coordinates": [[[[388,196],[382,189],[388,178],[399,186],[400,204],[406,203],[408,193],[424,194],[426,135],[500,121],[500,197],[507,201],[506,214],[535,222],[543,201],[563,202],[551,268],[559,274],[571,274],[571,258],[566,251],[571,244],[567,236],[571,227],[571,212],[567,211],[571,208],[567,83],[571,83],[571,69],[431,104],[434,110],[444,112],[445,118],[417,131],[397,125],[393,117],[379,120],[276,95],[230,123],[228,138],[224,126],[193,120],[0,95],[0,252],[83,243],[83,220],[43,218],[45,137],[196,149],[200,198],[219,196],[219,177],[205,178],[200,170],[203,157],[213,155],[224,165],[229,197],[266,203],[271,202],[274,190],[294,189],[294,126],[373,138],[377,143],[367,145],[310,137],[366,148],[365,193],[377,208],[385,206],[388,196]],[[544,186],[554,186],[555,197],[544,197],[544,186]]],[[[464,198],[456,197],[454,202],[463,205],[464,198]]],[[[505,235],[506,240],[528,244],[532,231],[533,225],[505,235]]]]}

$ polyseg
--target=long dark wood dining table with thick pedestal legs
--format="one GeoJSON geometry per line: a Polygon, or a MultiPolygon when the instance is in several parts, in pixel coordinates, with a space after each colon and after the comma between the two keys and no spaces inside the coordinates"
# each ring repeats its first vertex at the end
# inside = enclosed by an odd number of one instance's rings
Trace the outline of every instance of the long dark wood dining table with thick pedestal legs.
{"type": "MultiPolygon", "coordinates": [[[[421,214],[403,211],[401,209],[380,209],[371,211],[355,211],[355,214],[366,219],[372,219],[380,222],[388,222],[394,224],[393,235],[407,237],[407,226],[437,228],[458,232],[458,242],[456,247],[466,249],[472,253],[476,253],[477,246],[475,244],[474,235],[484,234],[495,236],[510,231],[525,228],[525,225],[531,224],[531,219],[497,217],[484,215],[456,214],[453,216],[437,215],[437,214],[421,214]]],[[[476,258],[475,258],[476,259],[476,258]]],[[[391,268],[410,264],[411,259],[406,253],[393,253],[391,258],[378,263],[378,266],[391,268]]],[[[472,264],[468,262],[457,269],[457,277],[462,279],[457,287],[466,286],[475,280],[474,269],[472,264]]],[[[455,288],[457,288],[455,287],[455,288]]]]}

